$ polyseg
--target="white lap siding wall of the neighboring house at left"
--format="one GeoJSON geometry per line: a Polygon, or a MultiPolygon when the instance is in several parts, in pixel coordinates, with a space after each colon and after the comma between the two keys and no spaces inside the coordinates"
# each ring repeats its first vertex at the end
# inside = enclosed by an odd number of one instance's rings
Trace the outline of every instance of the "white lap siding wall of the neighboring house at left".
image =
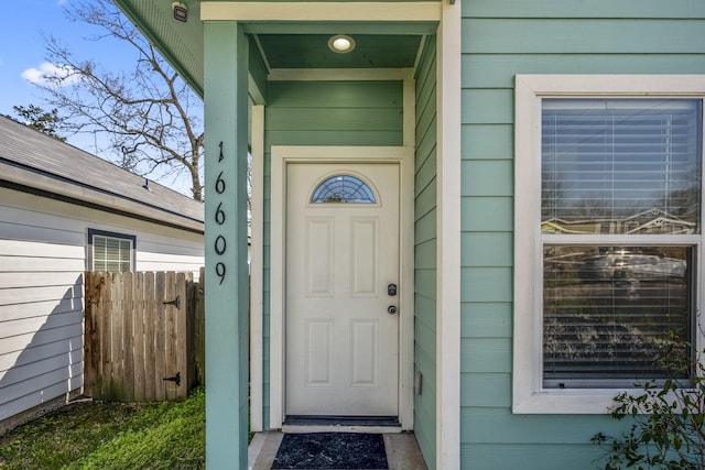
{"type": "Polygon", "coordinates": [[[137,236],[141,270],[203,265],[200,236],[154,223],[3,188],[0,214],[0,420],[83,385],[88,228],[137,236]]]}

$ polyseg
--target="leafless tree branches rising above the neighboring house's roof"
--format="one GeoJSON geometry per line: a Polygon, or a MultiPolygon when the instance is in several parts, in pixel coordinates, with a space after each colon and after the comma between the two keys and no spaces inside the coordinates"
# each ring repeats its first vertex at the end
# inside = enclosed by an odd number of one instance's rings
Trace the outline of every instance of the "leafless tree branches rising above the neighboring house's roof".
{"type": "Polygon", "coordinates": [[[44,76],[39,86],[61,111],[61,129],[107,135],[116,163],[142,175],[187,171],[194,199],[203,200],[203,120],[193,112],[202,109],[198,98],[112,2],[72,2],[65,11],[96,26],[99,33],[87,40],[130,44],[135,65],[111,72],[45,37],[46,58],[61,73],[44,76]]]}

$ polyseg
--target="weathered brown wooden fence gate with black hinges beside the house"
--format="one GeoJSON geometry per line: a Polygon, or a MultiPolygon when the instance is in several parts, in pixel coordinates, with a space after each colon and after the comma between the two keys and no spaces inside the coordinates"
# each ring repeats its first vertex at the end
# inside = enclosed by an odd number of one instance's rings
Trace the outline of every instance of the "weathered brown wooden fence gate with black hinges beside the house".
{"type": "Polygon", "coordinates": [[[203,291],[193,274],[86,272],[85,280],[86,395],[175,401],[203,383],[203,291]]]}

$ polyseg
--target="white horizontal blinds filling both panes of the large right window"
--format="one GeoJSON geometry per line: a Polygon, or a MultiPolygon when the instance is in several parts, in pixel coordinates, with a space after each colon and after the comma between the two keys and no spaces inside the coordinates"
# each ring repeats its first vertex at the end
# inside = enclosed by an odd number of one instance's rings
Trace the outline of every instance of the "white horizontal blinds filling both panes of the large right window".
{"type": "Polygon", "coordinates": [[[701,142],[701,100],[543,100],[544,387],[631,386],[687,353],[701,142]]]}

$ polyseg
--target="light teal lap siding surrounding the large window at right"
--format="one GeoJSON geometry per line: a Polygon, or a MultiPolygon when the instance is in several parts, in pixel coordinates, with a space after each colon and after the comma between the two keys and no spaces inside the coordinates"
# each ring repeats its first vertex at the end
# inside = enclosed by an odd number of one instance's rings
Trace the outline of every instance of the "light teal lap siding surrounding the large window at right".
{"type": "Polygon", "coordinates": [[[463,17],[463,468],[594,468],[608,416],[511,413],[514,75],[704,74],[705,2],[475,0],[463,17]]]}

